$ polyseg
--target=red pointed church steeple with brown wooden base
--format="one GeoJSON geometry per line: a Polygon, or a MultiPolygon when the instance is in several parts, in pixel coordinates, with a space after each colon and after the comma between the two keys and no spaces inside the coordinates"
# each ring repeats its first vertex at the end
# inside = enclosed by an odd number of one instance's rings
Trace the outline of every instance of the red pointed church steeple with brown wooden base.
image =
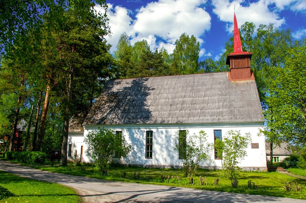
{"type": "Polygon", "coordinates": [[[229,80],[254,79],[250,66],[251,57],[252,53],[242,51],[236,14],[234,13],[234,52],[227,55],[226,58],[226,64],[230,65],[229,80]]]}

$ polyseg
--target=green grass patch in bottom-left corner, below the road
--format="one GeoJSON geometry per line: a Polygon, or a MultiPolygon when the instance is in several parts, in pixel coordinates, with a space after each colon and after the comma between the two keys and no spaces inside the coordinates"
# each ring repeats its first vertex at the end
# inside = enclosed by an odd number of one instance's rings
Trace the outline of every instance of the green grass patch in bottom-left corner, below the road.
{"type": "Polygon", "coordinates": [[[76,192],[56,183],[22,178],[0,171],[0,186],[7,188],[15,196],[0,200],[0,203],[80,203],[76,192]]]}

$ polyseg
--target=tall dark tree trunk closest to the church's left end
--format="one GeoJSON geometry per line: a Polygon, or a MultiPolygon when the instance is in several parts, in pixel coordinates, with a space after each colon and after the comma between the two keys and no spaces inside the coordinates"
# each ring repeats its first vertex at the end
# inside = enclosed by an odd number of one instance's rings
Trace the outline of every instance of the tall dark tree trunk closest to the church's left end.
{"type": "MultiPolygon", "coordinates": [[[[72,49],[73,52],[73,49],[72,49]]],[[[70,117],[70,103],[72,99],[72,83],[73,83],[73,65],[70,66],[69,71],[69,83],[67,89],[67,101],[65,103],[64,113],[64,126],[62,136],[62,150],[61,150],[61,166],[67,166],[67,143],[68,143],[68,131],[69,131],[69,117],[70,117]]]]}

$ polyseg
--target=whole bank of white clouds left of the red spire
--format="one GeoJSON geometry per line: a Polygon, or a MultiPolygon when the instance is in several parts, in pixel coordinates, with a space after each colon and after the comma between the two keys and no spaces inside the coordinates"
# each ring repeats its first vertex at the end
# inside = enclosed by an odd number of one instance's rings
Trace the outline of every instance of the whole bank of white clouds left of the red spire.
{"type": "MultiPolygon", "coordinates": [[[[126,32],[131,37],[131,43],[146,39],[151,50],[156,48],[165,49],[172,53],[175,41],[186,33],[194,35],[200,44],[200,38],[205,31],[211,27],[211,17],[205,11],[203,4],[206,0],[159,0],[150,2],[136,11],[135,18],[129,15],[128,9],[108,4],[108,18],[111,28],[111,38],[107,38],[112,44],[111,53],[116,49],[118,39],[122,32],[126,32]],[[161,38],[164,42],[156,42],[161,38]]],[[[97,8],[98,10],[98,8],[97,8]]]]}

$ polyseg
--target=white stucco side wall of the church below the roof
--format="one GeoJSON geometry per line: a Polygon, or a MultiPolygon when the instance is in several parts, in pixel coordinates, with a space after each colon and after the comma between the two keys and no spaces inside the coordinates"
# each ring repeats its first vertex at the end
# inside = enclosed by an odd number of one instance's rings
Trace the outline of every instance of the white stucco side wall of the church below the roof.
{"type": "MultiPolygon", "coordinates": [[[[181,160],[174,151],[173,136],[178,130],[188,130],[189,135],[199,133],[203,130],[207,133],[207,141],[214,143],[214,130],[222,130],[222,137],[226,136],[229,130],[240,130],[241,135],[251,133],[252,143],[258,143],[258,149],[252,149],[251,144],[247,148],[247,156],[239,166],[241,168],[266,168],[266,150],[264,136],[257,136],[259,129],[263,127],[263,123],[244,123],[244,124],[153,124],[153,125],[91,125],[85,126],[84,136],[88,132],[95,131],[100,128],[112,129],[114,131],[122,131],[125,136],[127,145],[131,145],[131,152],[126,158],[121,159],[121,163],[130,165],[153,165],[153,166],[181,166],[181,160]],[[179,127],[178,127],[179,126],[179,127]],[[153,131],[153,158],[145,158],[145,142],[146,131],[153,131]]],[[[73,144],[73,149],[80,148],[83,144],[83,162],[92,162],[88,147],[83,142],[83,136],[72,136],[69,133],[68,145],[73,144]]],[[[79,149],[80,150],[80,149],[79,149]]],[[[204,167],[221,167],[221,160],[215,160],[214,151],[211,151],[211,159],[213,161],[203,161],[200,166],[204,167]]]]}

